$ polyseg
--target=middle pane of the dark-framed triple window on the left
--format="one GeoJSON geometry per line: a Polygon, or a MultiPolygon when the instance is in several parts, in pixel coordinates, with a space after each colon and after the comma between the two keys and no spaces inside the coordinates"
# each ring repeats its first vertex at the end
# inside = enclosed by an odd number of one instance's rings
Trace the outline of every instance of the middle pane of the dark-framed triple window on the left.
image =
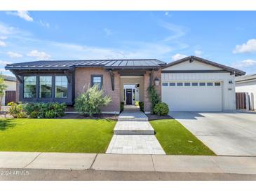
{"type": "Polygon", "coordinates": [[[51,76],[40,76],[39,78],[39,97],[50,98],[52,90],[52,77],[51,76]]]}

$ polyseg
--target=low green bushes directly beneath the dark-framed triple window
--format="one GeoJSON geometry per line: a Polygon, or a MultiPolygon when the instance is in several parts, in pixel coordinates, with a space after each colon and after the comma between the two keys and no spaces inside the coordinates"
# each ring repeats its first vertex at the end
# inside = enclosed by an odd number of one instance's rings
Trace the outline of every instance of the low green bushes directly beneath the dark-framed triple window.
{"type": "Polygon", "coordinates": [[[65,116],[65,103],[49,102],[49,103],[27,103],[24,104],[24,111],[29,118],[56,118],[65,116]]]}

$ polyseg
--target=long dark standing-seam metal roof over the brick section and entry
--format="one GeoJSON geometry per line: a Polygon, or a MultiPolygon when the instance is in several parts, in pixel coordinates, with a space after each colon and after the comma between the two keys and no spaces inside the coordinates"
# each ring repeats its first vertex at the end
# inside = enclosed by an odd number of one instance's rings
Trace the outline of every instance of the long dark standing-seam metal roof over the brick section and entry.
{"type": "Polygon", "coordinates": [[[72,67],[159,68],[166,62],[160,60],[48,60],[6,64],[6,69],[69,69],[72,67]]]}

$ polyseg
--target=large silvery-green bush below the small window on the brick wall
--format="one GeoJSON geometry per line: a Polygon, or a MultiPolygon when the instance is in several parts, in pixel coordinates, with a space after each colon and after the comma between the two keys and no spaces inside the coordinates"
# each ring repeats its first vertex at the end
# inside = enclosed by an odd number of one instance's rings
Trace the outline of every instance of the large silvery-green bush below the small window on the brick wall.
{"type": "Polygon", "coordinates": [[[76,98],[74,108],[79,114],[93,116],[100,114],[100,107],[107,106],[111,101],[111,97],[94,85],[76,98]]]}

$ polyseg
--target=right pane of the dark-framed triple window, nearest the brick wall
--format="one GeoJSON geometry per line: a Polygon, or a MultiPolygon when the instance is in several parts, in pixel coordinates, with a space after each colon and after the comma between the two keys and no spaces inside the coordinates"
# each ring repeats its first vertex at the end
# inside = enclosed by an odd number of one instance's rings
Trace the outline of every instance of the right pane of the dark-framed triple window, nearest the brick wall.
{"type": "Polygon", "coordinates": [[[55,76],[55,97],[67,98],[67,76],[55,76]]]}

